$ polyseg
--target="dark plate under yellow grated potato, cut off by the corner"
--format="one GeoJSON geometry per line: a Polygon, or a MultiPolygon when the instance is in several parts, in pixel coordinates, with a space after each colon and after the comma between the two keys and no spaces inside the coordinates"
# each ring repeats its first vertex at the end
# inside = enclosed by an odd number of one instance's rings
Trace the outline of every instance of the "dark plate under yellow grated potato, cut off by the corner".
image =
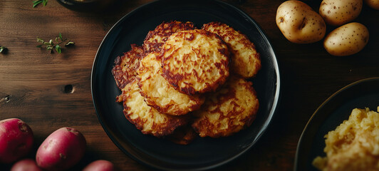
{"type": "Polygon", "coordinates": [[[329,131],[335,130],[343,120],[348,120],[354,108],[370,108],[376,111],[379,105],[379,77],[367,78],[338,90],[331,95],[308,121],[298,141],[295,170],[316,170],[312,161],[323,152],[329,131]]]}

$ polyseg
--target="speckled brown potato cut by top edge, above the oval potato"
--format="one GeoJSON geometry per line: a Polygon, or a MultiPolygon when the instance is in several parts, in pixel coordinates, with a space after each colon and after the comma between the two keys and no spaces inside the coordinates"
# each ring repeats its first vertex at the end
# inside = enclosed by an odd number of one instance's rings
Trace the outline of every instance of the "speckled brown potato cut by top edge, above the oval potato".
{"type": "Polygon", "coordinates": [[[359,16],[363,0],[323,0],[319,13],[326,24],[341,26],[359,16]]]}

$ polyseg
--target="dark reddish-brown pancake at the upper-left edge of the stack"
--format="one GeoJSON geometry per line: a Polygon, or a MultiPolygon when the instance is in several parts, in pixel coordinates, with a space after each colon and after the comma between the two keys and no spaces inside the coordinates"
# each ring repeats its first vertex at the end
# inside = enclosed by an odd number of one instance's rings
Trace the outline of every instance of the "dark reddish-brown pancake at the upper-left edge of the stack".
{"type": "Polygon", "coordinates": [[[116,86],[121,90],[133,81],[137,75],[137,68],[140,66],[140,59],[143,58],[142,46],[131,44],[130,51],[115,58],[115,66],[112,68],[112,75],[115,78],[116,86]]]}

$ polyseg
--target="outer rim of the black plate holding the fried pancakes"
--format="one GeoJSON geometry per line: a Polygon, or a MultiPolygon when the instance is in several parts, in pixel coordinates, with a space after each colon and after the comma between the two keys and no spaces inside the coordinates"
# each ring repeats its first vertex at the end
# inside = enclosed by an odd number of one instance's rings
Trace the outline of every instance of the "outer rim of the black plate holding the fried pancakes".
{"type": "MultiPolygon", "coordinates": [[[[264,135],[264,133],[266,132],[267,128],[269,128],[269,126],[271,125],[272,123],[272,120],[275,116],[275,113],[278,112],[278,109],[279,109],[279,103],[280,103],[280,99],[281,99],[281,77],[280,77],[280,69],[279,69],[279,63],[277,61],[277,58],[276,58],[276,53],[274,51],[274,48],[272,47],[272,44],[271,42],[269,41],[269,38],[268,36],[266,35],[266,33],[264,33],[263,29],[261,28],[261,26],[259,26],[259,24],[256,23],[256,21],[251,17],[249,16],[249,14],[246,14],[246,12],[242,11],[241,9],[238,9],[236,6],[233,6],[232,4],[229,4],[227,2],[224,2],[224,1],[219,1],[219,0],[207,0],[207,1],[212,1],[212,2],[215,2],[217,4],[222,4],[224,6],[228,6],[230,8],[232,8],[234,11],[238,12],[238,14],[240,16],[243,16],[244,19],[248,19],[249,23],[251,23],[252,25],[254,25],[256,27],[256,30],[259,32],[259,34],[261,35],[262,39],[264,41],[266,41],[267,43],[267,46],[269,47],[269,51],[271,51],[271,54],[273,55],[272,56],[272,60],[273,60],[273,68],[275,68],[275,76],[276,76],[276,88],[275,88],[275,94],[274,94],[274,99],[272,100],[272,107],[271,109],[269,110],[269,114],[268,114],[268,117],[267,119],[264,121],[264,124],[262,125],[262,128],[261,130],[259,131],[258,135],[256,136],[255,140],[254,141],[251,141],[251,144],[249,145],[249,147],[246,147],[244,148],[244,150],[241,150],[239,153],[237,153],[236,155],[234,155],[233,157],[229,157],[227,160],[222,160],[222,162],[218,162],[217,164],[214,164],[214,165],[207,165],[207,166],[204,166],[204,167],[197,167],[196,169],[194,170],[209,170],[209,169],[212,169],[212,168],[215,168],[215,167],[219,167],[221,165],[224,165],[228,162],[231,162],[232,160],[235,160],[237,157],[243,155],[246,151],[250,150],[252,146],[254,146],[256,144],[256,142],[261,138],[262,135],[264,135]]],[[[137,8],[133,9],[132,11],[130,11],[128,14],[125,14],[122,18],[120,18],[110,29],[109,31],[105,34],[103,40],[101,41],[99,47],[98,47],[98,51],[96,52],[95,54],[95,58],[93,59],[93,66],[92,66],[92,69],[91,69],[91,76],[90,76],[90,88],[91,88],[91,96],[92,96],[92,100],[93,100],[93,105],[94,105],[94,108],[95,108],[95,113],[98,117],[98,120],[100,122],[100,125],[102,126],[103,130],[105,131],[105,133],[108,135],[108,138],[110,138],[110,140],[112,140],[112,142],[119,148],[119,150],[121,150],[125,155],[128,155],[128,157],[131,157],[133,160],[141,163],[142,165],[145,165],[145,166],[148,166],[148,167],[151,167],[151,168],[155,168],[155,169],[160,169],[160,170],[177,170],[177,169],[170,169],[170,168],[167,168],[167,167],[162,167],[160,165],[152,165],[151,162],[146,162],[145,160],[142,160],[143,157],[136,157],[135,155],[131,154],[130,152],[128,152],[128,150],[124,149],[123,145],[120,145],[120,142],[118,142],[118,138],[115,136],[115,134],[113,133],[112,130],[110,130],[108,128],[108,125],[104,123],[103,119],[101,118],[102,116],[100,116],[99,114],[99,109],[98,109],[98,100],[95,98],[95,95],[94,95],[94,90],[93,90],[93,86],[94,86],[94,81],[95,79],[93,78],[94,76],[94,73],[95,73],[95,66],[98,62],[98,58],[99,58],[99,52],[100,52],[100,48],[102,48],[105,40],[108,38],[109,34],[113,31],[113,29],[115,29],[116,27],[118,27],[125,19],[127,19],[129,16],[132,16],[133,14],[137,13],[138,11],[140,11],[141,9],[144,9],[146,6],[150,6],[152,4],[155,4],[155,3],[159,3],[160,0],[157,0],[157,1],[151,1],[151,2],[148,2],[146,4],[142,4],[141,6],[138,6],[137,8]],[[111,133],[112,132],[112,133],[111,133]]],[[[186,169],[184,169],[186,170],[186,169]]],[[[193,169],[190,169],[190,170],[193,170],[193,169]]]]}

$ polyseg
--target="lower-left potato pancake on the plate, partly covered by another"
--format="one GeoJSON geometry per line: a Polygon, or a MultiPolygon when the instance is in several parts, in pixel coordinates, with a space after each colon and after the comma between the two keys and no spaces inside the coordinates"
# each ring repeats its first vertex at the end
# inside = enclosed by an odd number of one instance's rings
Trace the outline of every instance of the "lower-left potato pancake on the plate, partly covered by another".
{"type": "Polygon", "coordinates": [[[177,127],[189,122],[187,115],[166,115],[147,105],[140,95],[136,79],[123,88],[122,94],[118,95],[116,101],[123,103],[125,118],[143,134],[164,137],[172,134],[177,127]]]}

